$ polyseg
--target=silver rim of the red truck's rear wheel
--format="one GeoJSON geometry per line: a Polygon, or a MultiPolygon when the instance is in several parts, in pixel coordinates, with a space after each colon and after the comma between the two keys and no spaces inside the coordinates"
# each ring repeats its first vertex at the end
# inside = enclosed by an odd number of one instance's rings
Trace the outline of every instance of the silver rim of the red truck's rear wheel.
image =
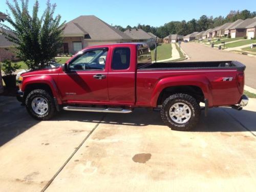
{"type": "Polygon", "coordinates": [[[191,118],[191,109],[183,102],[174,103],[169,110],[170,118],[178,123],[186,123],[191,118]]]}

